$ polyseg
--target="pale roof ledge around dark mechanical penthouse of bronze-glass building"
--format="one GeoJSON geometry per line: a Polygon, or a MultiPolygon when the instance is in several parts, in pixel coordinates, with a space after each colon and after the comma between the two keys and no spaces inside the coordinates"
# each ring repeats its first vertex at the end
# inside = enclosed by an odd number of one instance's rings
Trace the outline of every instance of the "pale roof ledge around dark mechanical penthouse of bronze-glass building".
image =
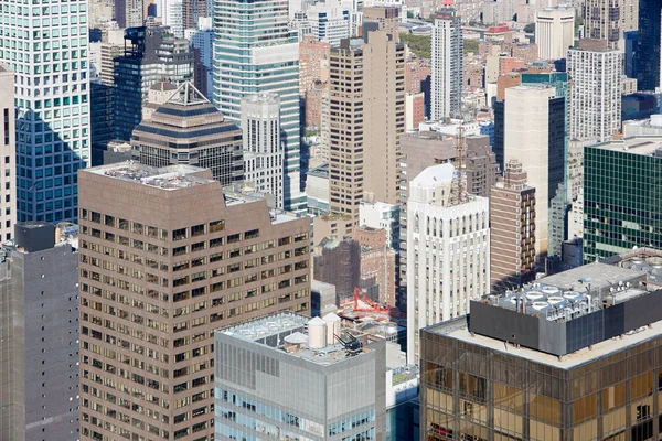
{"type": "Polygon", "coordinates": [[[583,349],[566,354],[560,358],[556,355],[530,349],[524,346],[515,347],[501,340],[491,338],[484,335],[472,335],[467,326],[466,316],[435,324],[426,330],[434,334],[445,335],[449,338],[457,340],[458,342],[498,351],[506,355],[516,356],[559,369],[570,369],[623,351],[627,347],[637,346],[649,340],[660,337],[662,335],[662,321],[654,322],[650,326],[630,331],[622,338],[609,338],[594,344],[591,348],[585,347],[583,349]]]}

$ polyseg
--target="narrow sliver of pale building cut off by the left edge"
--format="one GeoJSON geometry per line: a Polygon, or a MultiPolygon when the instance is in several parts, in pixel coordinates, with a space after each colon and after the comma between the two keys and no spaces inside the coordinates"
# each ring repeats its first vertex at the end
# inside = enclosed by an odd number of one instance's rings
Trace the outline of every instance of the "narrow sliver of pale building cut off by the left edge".
{"type": "Polygon", "coordinates": [[[17,117],[14,104],[14,73],[0,65],[0,154],[4,172],[0,174],[0,240],[12,237],[17,223],[17,117]]]}

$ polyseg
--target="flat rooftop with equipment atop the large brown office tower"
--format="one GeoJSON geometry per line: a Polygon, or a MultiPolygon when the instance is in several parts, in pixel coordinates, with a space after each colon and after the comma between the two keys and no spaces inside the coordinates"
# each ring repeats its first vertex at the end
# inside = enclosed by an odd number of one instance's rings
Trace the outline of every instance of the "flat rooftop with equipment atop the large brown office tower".
{"type": "Polygon", "coordinates": [[[180,190],[216,181],[199,176],[201,169],[193,165],[170,165],[156,168],[138,162],[127,161],[117,164],[86,169],[86,172],[135,182],[161,190],[180,190]]]}

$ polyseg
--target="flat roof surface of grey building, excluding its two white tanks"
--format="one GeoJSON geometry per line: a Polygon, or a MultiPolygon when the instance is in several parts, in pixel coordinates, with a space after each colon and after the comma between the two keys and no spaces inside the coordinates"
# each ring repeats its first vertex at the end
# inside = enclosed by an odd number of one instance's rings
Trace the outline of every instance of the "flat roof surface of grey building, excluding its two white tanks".
{"type": "MultiPolygon", "coordinates": [[[[335,314],[327,314],[338,319],[335,314]]],[[[320,318],[310,319],[295,312],[279,312],[259,319],[218,330],[217,332],[235,338],[253,342],[263,346],[289,354],[292,357],[306,359],[319,365],[341,363],[352,355],[339,342],[325,345],[323,348],[312,348],[309,344],[309,324],[312,321],[324,322],[320,318]]],[[[328,322],[327,322],[328,323],[328,322]]],[[[343,327],[342,331],[345,331],[343,327]]],[[[350,331],[349,329],[346,331],[350,331]]],[[[344,335],[344,332],[341,332],[344,335]]],[[[324,338],[325,338],[324,333],[324,338]]],[[[343,336],[344,338],[344,336],[343,336]]],[[[361,353],[372,352],[367,344],[361,353]]],[[[361,355],[359,353],[359,355],[361,355]]]]}

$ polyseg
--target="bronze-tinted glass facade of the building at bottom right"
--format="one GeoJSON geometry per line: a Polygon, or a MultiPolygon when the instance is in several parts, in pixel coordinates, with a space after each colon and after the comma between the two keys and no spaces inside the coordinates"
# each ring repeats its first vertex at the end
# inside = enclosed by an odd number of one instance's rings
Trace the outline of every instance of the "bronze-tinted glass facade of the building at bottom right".
{"type": "Polygon", "coordinates": [[[559,368],[452,338],[435,327],[420,334],[421,440],[660,439],[659,334],[559,368]]]}

